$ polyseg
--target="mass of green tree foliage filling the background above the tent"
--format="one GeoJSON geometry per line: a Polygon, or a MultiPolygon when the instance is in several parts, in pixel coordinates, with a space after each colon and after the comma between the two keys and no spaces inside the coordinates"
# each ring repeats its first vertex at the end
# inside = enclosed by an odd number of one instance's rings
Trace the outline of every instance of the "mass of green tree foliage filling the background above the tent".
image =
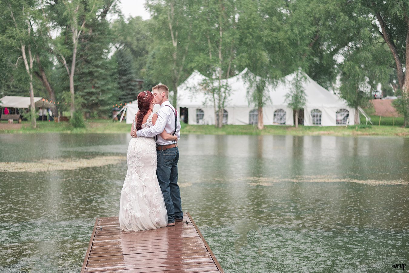
{"type": "MultiPolygon", "coordinates": [[[[78,5],[74,19],[64,1],[0,1],[0,96],[28,96],[29,78],[18,50],[23,41],[39,57],[33,64],[34,95],[50,96],[40,77],[43,70],[61,102],[58,110],[68,110],[69,81],[61,58],[68,64],[72,60],[73,20],[85,22],[74,86],[76,108],[86,117],[108,117],[112,105],[130,102],[160,82],[176,95],[193,70],[224,79],[247,67],[254,108],[267,102],[266,83],[277,83],[299,69],[339,91],[352,107],[364,106],[378,84],[384,95],[405,89],[378,16],[405,71],[407,1],[147,0],[148,20],[125,18],[117,0],[73,0],[70,5],[78,5]]],[[[171,100],[175,103],[176,96],[171,100]]],[[[303,93],[288,94],[288,101],[302,102],[303,93]]],[[[213,103],[216,110],[223,106],[213,103]]],[[[398,105],[401,113],[408,112],[405,99],[398,105]]]]}

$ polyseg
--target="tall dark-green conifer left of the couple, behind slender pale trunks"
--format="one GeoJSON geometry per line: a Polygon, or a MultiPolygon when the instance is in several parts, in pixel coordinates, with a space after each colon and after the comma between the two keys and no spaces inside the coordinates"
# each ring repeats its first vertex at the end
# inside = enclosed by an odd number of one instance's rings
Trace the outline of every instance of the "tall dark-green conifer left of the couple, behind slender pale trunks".
{"type": "MultiPolygon", "coordinates": [[[[110,3],[103,6],[103,12],[94,14],[85,23],[84,32],[79,40],[78,61],[76,66],[77,105],[84,109],[86,117],[101,116],[108,113],[109,105],[118,98],[117,63],[109,59],[115,34],[106,21],[110,3]]],[[[135,96],[135,94],[134,94],[135,96]]]]}

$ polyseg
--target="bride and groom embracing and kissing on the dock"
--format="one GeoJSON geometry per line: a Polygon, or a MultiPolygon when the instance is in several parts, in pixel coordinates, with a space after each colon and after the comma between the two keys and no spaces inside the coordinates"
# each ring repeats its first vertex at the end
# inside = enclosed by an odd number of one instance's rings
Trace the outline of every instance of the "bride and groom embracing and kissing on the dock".
{"type": "Polygon", "coordinates": [[[183,220],[178,186],[178,111],[169,102],[169,88],[158,84],[137,97],[121,191],[119,225],[125,231],[174,226],[183,220]],[[160,104],[157,113],[153,106],[160,104]]]}

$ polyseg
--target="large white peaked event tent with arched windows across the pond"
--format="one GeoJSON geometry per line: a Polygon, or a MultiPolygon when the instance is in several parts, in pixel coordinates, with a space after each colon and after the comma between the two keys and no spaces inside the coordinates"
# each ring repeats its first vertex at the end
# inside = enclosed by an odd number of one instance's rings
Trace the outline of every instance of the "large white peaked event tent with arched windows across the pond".
{"type": "MultiPolygon", "coordinates": [[[[247,68],[229,79],[222,80],[231,87],[231,94],[224,108],[224,124],[256,124],[257,109],[249,105],[247,98],[248,81],[245,80],[247,68]]],[[[285,95],[292,88],[295,72],[284,77],[274,88],[267,85],[270,102],[263,107],[264,125],[293,125],[293,110],[285,102],[285,95]]],[[[303,124],[310,126],[337,126],[354,123],[355,110],[347,106],[343,99],[320,86],[304,74],[303,88],[306,93],[306,106],[303,109],[303,124]]],[[[178,87],[178,109],[187,108],[189,124],[214,124],[215,114],[211,97],[200,88],[206,77],[194,71],[178,87]]],[[[215,83],[217,84],[217,83],[215,83]]],[[[182,110],[182,109],[181,109],[182,110]]],[[[181,111],[182,112],[182,111],[181,111]]]]}

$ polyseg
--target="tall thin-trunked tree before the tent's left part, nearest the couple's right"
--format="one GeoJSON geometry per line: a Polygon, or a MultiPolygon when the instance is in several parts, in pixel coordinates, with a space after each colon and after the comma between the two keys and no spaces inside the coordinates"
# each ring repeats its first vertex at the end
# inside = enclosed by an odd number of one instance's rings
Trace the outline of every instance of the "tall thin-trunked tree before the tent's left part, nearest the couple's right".
{"type": "Polygon", "coordinates": [[[193,63],[203,74],[211,78],[205,84],[213,102],[215,125],[222,127],[224,107],[231,88],[222,83],[235,74],[239,45],[237,20],[240,16],[238,0],[205,1],[199,9],[193,25],[195,56],[193,63]]]}

